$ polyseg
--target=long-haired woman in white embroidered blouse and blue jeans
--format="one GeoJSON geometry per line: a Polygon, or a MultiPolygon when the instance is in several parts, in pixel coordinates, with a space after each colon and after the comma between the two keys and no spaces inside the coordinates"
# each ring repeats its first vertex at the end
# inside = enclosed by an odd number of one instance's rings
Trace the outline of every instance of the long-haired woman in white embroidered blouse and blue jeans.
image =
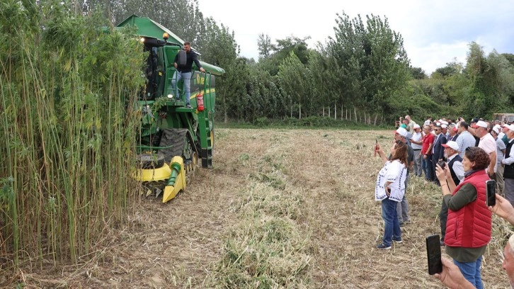
{"type": "Polygon", "coordinates": [[[405,194],[407,145],[405,142],[395,142],[389,158],[379,145],[375,147],[375,151],[384,160],[384,167],[378,173],[375,186],[375,200],[382,201],[382,219],[384,219],[384,238],[377,248],[387,250],[391,249],[393,241],[401,243],[396,203],[401,202],[405,194]]]}

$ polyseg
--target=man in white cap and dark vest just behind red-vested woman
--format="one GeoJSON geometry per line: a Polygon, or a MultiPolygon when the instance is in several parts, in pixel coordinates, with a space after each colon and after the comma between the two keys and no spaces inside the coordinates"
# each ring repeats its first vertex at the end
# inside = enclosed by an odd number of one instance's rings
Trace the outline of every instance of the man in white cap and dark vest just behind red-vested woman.
{"type": "MultiPolygon", "coordinates": [[[[462,179],[464,179],[464,166],[462,166],[462,157],[459,156],[459,145],[457,145],[457,142],[450,141],[442,144],[442,147],[445,148],[445,157],[447,159],[448,169],[450,169],[450,174],[452,175],[452,180],[455,183],[455,186],[458,186],[462,179]]],[[[441,246],[444,246],[445,244],[447,218],[448,206],[446,205],[446,202],[442,200],[441,211],[439,212],[441,246]]]]}

